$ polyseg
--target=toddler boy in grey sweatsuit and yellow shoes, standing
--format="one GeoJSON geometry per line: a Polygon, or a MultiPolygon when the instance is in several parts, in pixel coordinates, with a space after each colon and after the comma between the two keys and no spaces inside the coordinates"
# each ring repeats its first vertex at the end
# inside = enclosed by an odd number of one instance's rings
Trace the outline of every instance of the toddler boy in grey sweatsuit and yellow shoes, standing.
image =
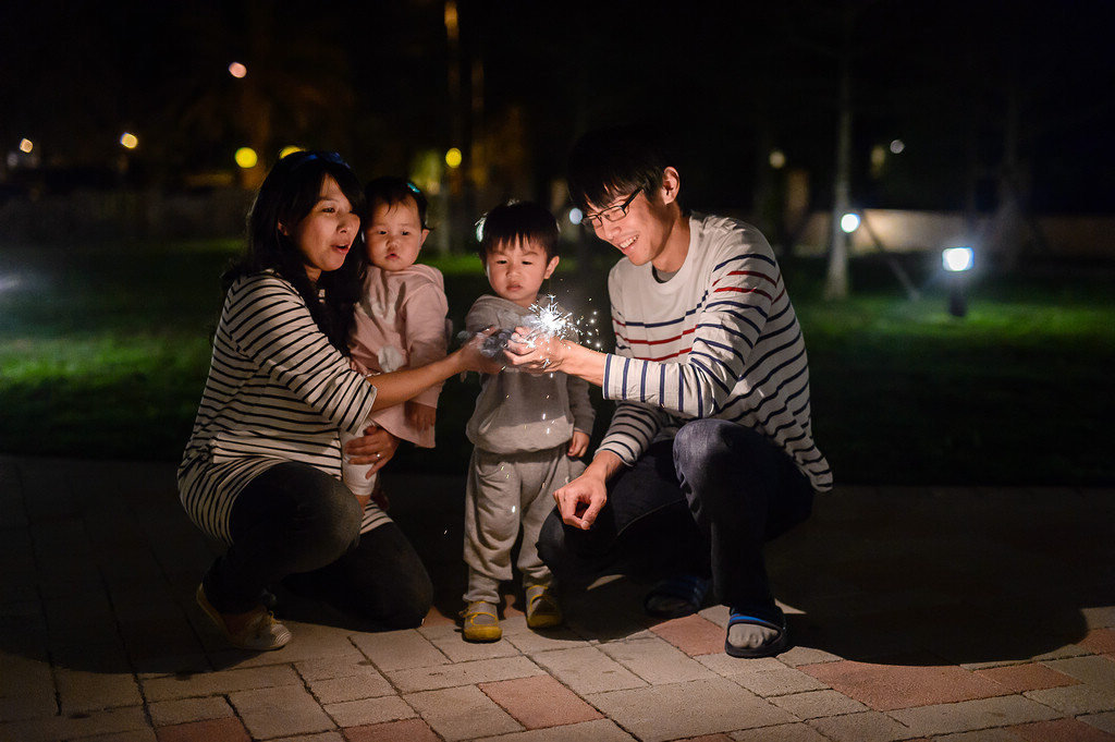
{"type": "MultiPolygon", "coordinates": [[[[481,259],[495,296],[477,299],[465,318],[469,333],[488,327],[531,326],[539,290],[558,268],[558,224],[542,206],[513,202],[483,221],[481,259]]],[[[549,305],[547,299],[542,299],[549,305]]],[[[526,625],[558,626],[562,610],[551,592],[551,574],[539,557],[542,522],[553,492],[584,465],[594,409],[588,383],[561,373],[532,375],[507,369],[481,378],[476,408],[465,428],[475,446],[465,493],[465,562],[468,589],[462,613],[468,642],[503,636],[500,582],[512,577],[511,550],[522,529],[518,570],[526,625]]]]}

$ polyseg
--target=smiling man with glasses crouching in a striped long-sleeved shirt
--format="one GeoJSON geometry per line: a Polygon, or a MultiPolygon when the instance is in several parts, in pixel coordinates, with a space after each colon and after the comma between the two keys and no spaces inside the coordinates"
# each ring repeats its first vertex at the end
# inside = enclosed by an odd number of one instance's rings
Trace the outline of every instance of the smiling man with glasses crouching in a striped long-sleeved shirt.
{"type": "Polygon", "coordinates": [[[661,617],[699,610],[711,584],[730,608],[725,651],[776,655],[786,621],[763,547],[832,488],[778,263],[755,228],[683,209],[677,168],[641,129],[586,134],[568,180],[627,258],[608,279],[615,353],[520,336],[507,363],[579,376],[618,405],[585,472],[554,494],[539,550],[566,580],[667,575],[646,601],[661,617]]]}

